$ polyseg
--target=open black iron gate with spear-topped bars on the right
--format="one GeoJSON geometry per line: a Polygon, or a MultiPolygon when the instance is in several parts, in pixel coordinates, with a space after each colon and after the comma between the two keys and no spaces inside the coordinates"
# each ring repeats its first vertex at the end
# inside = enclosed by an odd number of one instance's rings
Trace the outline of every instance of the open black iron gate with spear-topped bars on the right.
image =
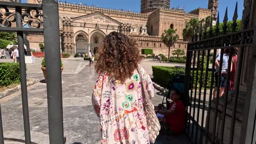
{"type": "MultiPolygon", "coordinates": [[[[228,8],[227,8],[228,9],[228,8]]],[[[187,63],[185,74],[185,94],[190,97],[190,105],[187,107],[189,122],[187,133],[193,143],[234,143],[234,129],[237,121],[237,101],[241,81],[241,71],[245,47],[253,45],[255,29],[247,29],[235,32],[237,27],[237,4],[231,27],[232,33],[227,34],[228,13],[225,13],[223,26],[220,29],[219,14],[216,29],[213,32],[211,22],[210,28],[203,30],[202,23],[196,28],[197,32],[193,35],[193,42],[188,44],[187,63]],[[209,29],[209,30],[207,30],[209,29]],[[208,34],[207,34],[207,31],[208,34]],[[222,31],[222,35],[220,34],[222,31]],[[234,47],[239,49],[236,67],[236,79],[234,93],[227,91],[229,88],[230,70],[234,47]],[[224,50],[229,50],[228,69],[223,70],[223,58],[226,56],[224,50]],[[217,53],[217,50],[220,50],[217,53]],[[216,58],[219,55],[219,69],[216,72],[216,58]],[[193,77],[193,82],[189,91],[189,76],[193,77]],[[226,78],[227,85],[225,93],[220,95],[222,77],[226,78]],[[215,77],[217,78],[215,80],[215,77]],[[215,83],[217,86],[214,86],[215,83]],[[214,93],[216,87],[216,94],[214,93]],[[214,96],[216,95],[216,97],[214,96]],[[230,96],[232,95],[232,97],[230,96]],[[227,108],[229,107],[229,112],[227,108]],[[226,122],[229,115],[230,122],[226,122]],[[228,125],[228,126],[227,126],[228,125]],[[230,129],[226,129],[229,127],[230,129]],[[225,135],[225,136],[224,136],[225,135]]],[[[229,27],[230,28],[230,27],[229,27]]],[[[243,131],[241,131],[243,133],[243,131]]]]}

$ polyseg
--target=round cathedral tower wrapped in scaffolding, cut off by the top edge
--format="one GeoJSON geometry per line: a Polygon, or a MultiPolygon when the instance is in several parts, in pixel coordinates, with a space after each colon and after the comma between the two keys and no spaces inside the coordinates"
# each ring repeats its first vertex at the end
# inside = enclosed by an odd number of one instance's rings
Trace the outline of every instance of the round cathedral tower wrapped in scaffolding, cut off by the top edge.
{"type": "Polygon", "coordinates": [[[141,0],[141,13],[149,13],[158,8],[170,9],[171,0],[141,0]]]}

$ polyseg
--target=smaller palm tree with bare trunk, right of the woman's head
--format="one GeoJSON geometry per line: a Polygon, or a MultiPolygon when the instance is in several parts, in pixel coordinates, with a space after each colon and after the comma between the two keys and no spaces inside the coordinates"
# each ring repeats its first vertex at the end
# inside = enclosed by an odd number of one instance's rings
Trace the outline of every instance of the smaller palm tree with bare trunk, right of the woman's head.
{"type": "Polygon", "coordinates": [[[172,28],[169,28],[167,31],[165,30],[164,33],[162,33],[162,41],[165,43],[166,46],[169,47],[169,52],[168,52],[168,59],[170,58],[170,49],[171,46],[176,43],[176,41],[179,38],[179,35],[176,34],[176,30],[173,30],[172,28]]]}

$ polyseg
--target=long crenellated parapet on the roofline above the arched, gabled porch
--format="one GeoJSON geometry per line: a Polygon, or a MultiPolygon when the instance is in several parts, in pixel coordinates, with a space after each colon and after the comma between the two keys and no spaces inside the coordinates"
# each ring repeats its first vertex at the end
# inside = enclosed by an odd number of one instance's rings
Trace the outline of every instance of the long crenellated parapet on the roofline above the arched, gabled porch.
{"type": "Polygon", "coordinates": [[[106,8],[99,8],[99,7],[90,7],[90,6],[87,6],[87,5],[61,3],[61,2],[59,2],[59,9],[84,11],[86,13],[100,12],[102,14],[108,14],[108,15],[112,14],[112,15],[123,15],[123,16],[131,16],[131,17],[144,17],[144,18],[148,17],[148,14],[135,13],[135,12],[132,12],[132,11],[124,11],[124,10],[117,10],[117,9],[106,9],[106,8]]]}

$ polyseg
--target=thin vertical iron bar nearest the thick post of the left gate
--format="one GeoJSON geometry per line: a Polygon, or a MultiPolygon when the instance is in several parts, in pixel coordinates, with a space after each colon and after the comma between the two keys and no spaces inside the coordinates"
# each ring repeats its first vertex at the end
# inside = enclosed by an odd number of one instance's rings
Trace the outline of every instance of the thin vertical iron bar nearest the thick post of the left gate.
{"type": "MultiPolygon", "coordinates": [[[[21,3],[21,0],[15,0],[16,3],[21,3]]],[[[16,7],[16,26],[22,27],[21,21],[21,8],[16,7]]],[[[26,79],[26,64],[25,64],[25,49],[23,32],[17,32],[18,48],[19,48],[19,63],[20,63],[20,78],[21,78],[21,97],[22,97],[22,110],[24,119],[24,131],[26,144],[31,143],[30,135],[30,116],[28,113],[28,98],[27,98],[27,79],[26,79]]]]}

